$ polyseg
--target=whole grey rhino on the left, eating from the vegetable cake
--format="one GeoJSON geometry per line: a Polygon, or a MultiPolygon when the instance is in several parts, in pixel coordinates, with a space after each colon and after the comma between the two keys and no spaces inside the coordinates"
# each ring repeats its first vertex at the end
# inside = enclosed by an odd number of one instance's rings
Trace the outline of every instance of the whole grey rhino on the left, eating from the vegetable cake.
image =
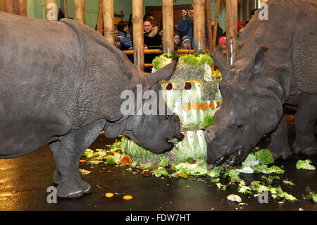
{"type": "Polygon", "coordinates": [[[178,116],[120,113],[123,90],[139,84],[158,93],[159,80],[170,78],[176,61],[153,75],[139,73],[112,43],[74,20],[2,12],[0,48],[0,159],[49,144],[59,197],[91,191],[79,159],[101,130],[108,138],[125,133],[154,153],[171,150],[168,140],[180,140],[178,116]]]}

